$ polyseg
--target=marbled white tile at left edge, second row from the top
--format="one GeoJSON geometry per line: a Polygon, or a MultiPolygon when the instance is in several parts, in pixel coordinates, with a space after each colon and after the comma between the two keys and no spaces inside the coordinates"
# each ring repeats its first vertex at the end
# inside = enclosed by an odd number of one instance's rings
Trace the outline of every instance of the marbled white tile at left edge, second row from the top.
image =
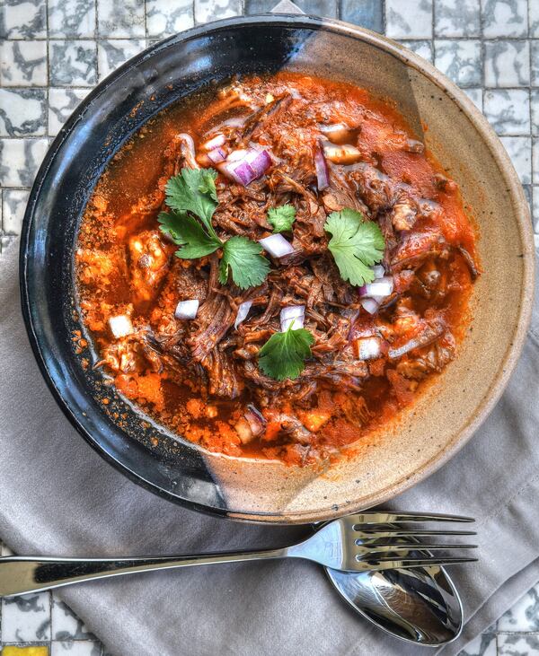
{"type": "Polygon", "coordinates": [[[47,84],[47,41],[0,42],[2,86],[47,84]]]}

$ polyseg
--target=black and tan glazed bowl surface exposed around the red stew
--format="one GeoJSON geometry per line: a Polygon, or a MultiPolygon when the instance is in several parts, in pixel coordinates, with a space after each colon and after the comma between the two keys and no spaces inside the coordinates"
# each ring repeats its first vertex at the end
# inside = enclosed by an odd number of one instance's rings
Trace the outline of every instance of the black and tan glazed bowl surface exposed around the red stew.
{"type": "Polygon", "coordinates": [[[426,477],[471,436],[498,398],[531,309],[533,241],[526,213],[515,171],[484,119],[418,57],[339,22],[234,19],[148,49],[75,111],[40,170],[25,216],[23,310],[58,402],[84,437],[138,483],[238,519],[324,520],[383,502],[426,477]],[[148,118],[201,85],[283,68],[356,83],[396,101],[473,208],[484,269],[457,360],[398,424],[324,472],[217,456],[174,439],[147,418],[143,425],[128,402],[102,385],[99,373],[84,369],[81,357],[88,354],[75,354],[72,340],[73,331],[83,329],[73,285],[77,226],[110,157],[148,118]]]}

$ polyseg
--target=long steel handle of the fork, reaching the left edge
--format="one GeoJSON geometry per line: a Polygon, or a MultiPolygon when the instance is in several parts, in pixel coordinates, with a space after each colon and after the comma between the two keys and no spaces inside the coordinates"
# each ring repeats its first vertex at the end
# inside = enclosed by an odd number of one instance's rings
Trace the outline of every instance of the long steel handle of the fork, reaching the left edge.
{"type": "Polygon", "coordinates": [[[237,563],[286,557],[287,549],[227,552],[204,555],[169,555],[137,558],[57,558],[8,555],[0,558],[0,597],[51,590],[110,576],[192,567],[199,564],[237,563]]]}

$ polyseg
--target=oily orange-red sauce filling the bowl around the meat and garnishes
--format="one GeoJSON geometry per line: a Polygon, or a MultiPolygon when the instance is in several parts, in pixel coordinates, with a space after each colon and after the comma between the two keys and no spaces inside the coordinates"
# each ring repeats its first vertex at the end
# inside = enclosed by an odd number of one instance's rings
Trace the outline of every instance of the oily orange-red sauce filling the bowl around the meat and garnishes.
{"type": "MultiPolygon", "coordinates": [[[[340,206],[345,205],[340,201],[340,206]]],[[[296,234],[296,220],[293,245],[296,241],[306,244],[308,257],[297,265],[297,281],[314,272],[315,283],[314,266],[310,264],[313,259],[325,258],[326,268],[334,265],[328,254],[309,251],[312,243],[308,221],[302,225],[304,232],[296,234]]],[[[234,232],[227,232],[225,226],[216,223],[220,236],[226,238],[234,232]]],[[[426,380],[443,371],[457,356],[468,298],[477,275],[475,233],[464,213],[458,188],[424,152],[393,103],[349,84],[300,74],[252,77],[220,90],[209,89],[149,121],[121,149],[99,180],[80,226],[75,263],[81,315],[100,354],[95,365],[102,368],[103,375],[121,394],[173,432],[208,450],[278,458],[297,465],[334,458],[340,448],[391,420],[400,408],[417,398],[426,380]],[[212,377],[219,374],[208,360],[200,363],[184,355],[187,344],[194,348],[196,331],[204,328],[197,324],[202,319],[198,316],[185,326],[185,320],[174,318],[174,309],[181,300],[199,294],[200,308],[204,302],[216,302],[214,291],[208,289],[211,258],[175,258],[176,247],[159,232],[157,223],[157,214],[166,209],[164,182],[189,165],[180,151],[172,153],[171,144],[177,144],[180,133],[188,133],[194,140],[199,164],[208,165],[200,151],[200,144],[208,136],[223,129],[228,130],[227,137],[233,144],[234,140],[241,142],[250,117],[265,103],[282,98],[287,99],[286,109],[278,108],[274,115],[264,118],[253,133],[258,146],[278,153],[272,169],[249,186],[256,192],[255,197],[258,194],[258,200],[241,196],[244,189],[236,190],[234,185],[231,188],[230,180],[222,175],[217,179],[219,200],[223,198],[225,204],[230,193],[237,191],[240,200],[230,205],[232,220],[241,220],[238,230],[257,241],[270,234],[263,220],[252,219],[259,210],[265,213],[268,206],[288,202],[296,206],[300,217],[307,212],[305,196],[283,187],[282,180],[278,182],[275,170],[279,167],[298,180],[305,193],[314,197],[319,211],[326,214],[336,209],[332,207],[335,198],[331,193],[344,189],[352,201],[363,204],[371,220],[381,225],[385,222],[389,237],[384,263],[386,273],[394,277],[395,288],[373,316],[359,303],[358,290],[338,279],[336,269],[331,269],[334,277],[327,284],[347,300],[328,305],[320,297],[314,309],[327,319],[326,323],[307,318],[305,328],[312,329],[317,345],[323,343],[334,332],[331,321],[335,322],[341,313],[349,322],[346,343],[341,340],[334,353],[323,352],[318,360],[314,358],[312,379],[275,390],[270,388],[270,381],[259,384],[256,377],[243,375],[247,370],[240,356],[235,355],[237,344],[228,345],[235,339],[231,327],[220,344],[226,366],[234,370],[239,391],[212,393],[212,377]],[[321,125],[341,123],[349,127],[348,132],[331,141],[319,130],[321,125]],[[360,153],[356,162],[328,162],[331,185],[324,191],[317,189],[316,178],[310,172],[314,165],[309,153],[321,138],[330,146],[331,142],[351,144],[360,153]],[[395,216],[402,198],[413,208],[412,224],[405,230],[395,216]],[[182,276],[190,276],[190,283],[182,286],[182,276]],[[128,316],[134,335],[113,337],[109,319],[118,316],[128,316]],[[431,333],[434,338],[429,337],[431,333]],[[349,374],[346,368],[335,369],[336,361],[340,366],[343,362],[351,366],[358,358],[361,339],[373,336],[379,339],[381,352],[361,363],[360,375],[349,374]],[[395,355],[399,349],[404,349],[402,355],[395,355]],[[317,378],[316,367],[321,371],[333,367],[331,376],[317,378]],[[308,393],[301,391],[302,385],[308,393]],[[243,416],[250,405],[262,415],[263,431],[245,437],[240,424],[244,424],[243,416]]],[[[279,266],[272,262],[276,276],[279,266]]],[[[278,282],[275,284],[278,286],[278,282]]],[[[299,294],[295,302],[302,302],[303,292],[297,291],[297,285],[295,291],[286,285],[281,285],[286,289],[280,306],[293,294],[299,294]]],[[[221,293],[233,299],[229,301],[233,309],[243,298],[230,284],[221,293]]],[[[270,294],[262,290],[261,296],[263,293],[270,294]]],[[[250,322],[260,319],[264,309],[263,304],[255,306],[253,316],[238,329],[240,345],[250,339],[246,337],[252,334],[250,322]]],[[[268,319],[270,333],[278,330],[278,309],[268,319]]],[[[229,317],[232,310],[227,311],[229,317]]],[[[261,342],[254,337],[249,343],[256,349],[261,342]]],[[[256,355],[250,362],[256,365],[256,355]]]]}

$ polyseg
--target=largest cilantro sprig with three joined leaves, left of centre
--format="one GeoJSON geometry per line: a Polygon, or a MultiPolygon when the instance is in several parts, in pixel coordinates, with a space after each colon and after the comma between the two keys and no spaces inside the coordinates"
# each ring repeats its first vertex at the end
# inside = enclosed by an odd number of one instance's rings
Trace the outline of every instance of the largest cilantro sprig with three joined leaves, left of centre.
{"type": "Polygon", "coordinates": [[[262,257],[262,247],[246,237],[221,241],[211,223],[218,205],[216,171],[182,169],[165,186],[165,202],[170,212],[157,217],[161,231],[180,246],[178,258],[195,259],[223,250],[219,282],[226,284],[229,271],[240,289],[262,284],[270,271],[270,262],[262,257]]]}

